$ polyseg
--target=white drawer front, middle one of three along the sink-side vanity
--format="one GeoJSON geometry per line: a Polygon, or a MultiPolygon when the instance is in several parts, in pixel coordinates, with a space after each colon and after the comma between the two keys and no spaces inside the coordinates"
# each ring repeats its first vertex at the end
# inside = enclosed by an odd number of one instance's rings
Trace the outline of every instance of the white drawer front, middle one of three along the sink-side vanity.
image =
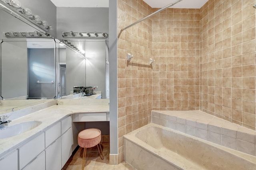
{"type": "Polygon", "coordinates": [[[61,135],[61,123],[58,122],[45,131],[45,147],[47,148],[53,141],[61,135]]]}

